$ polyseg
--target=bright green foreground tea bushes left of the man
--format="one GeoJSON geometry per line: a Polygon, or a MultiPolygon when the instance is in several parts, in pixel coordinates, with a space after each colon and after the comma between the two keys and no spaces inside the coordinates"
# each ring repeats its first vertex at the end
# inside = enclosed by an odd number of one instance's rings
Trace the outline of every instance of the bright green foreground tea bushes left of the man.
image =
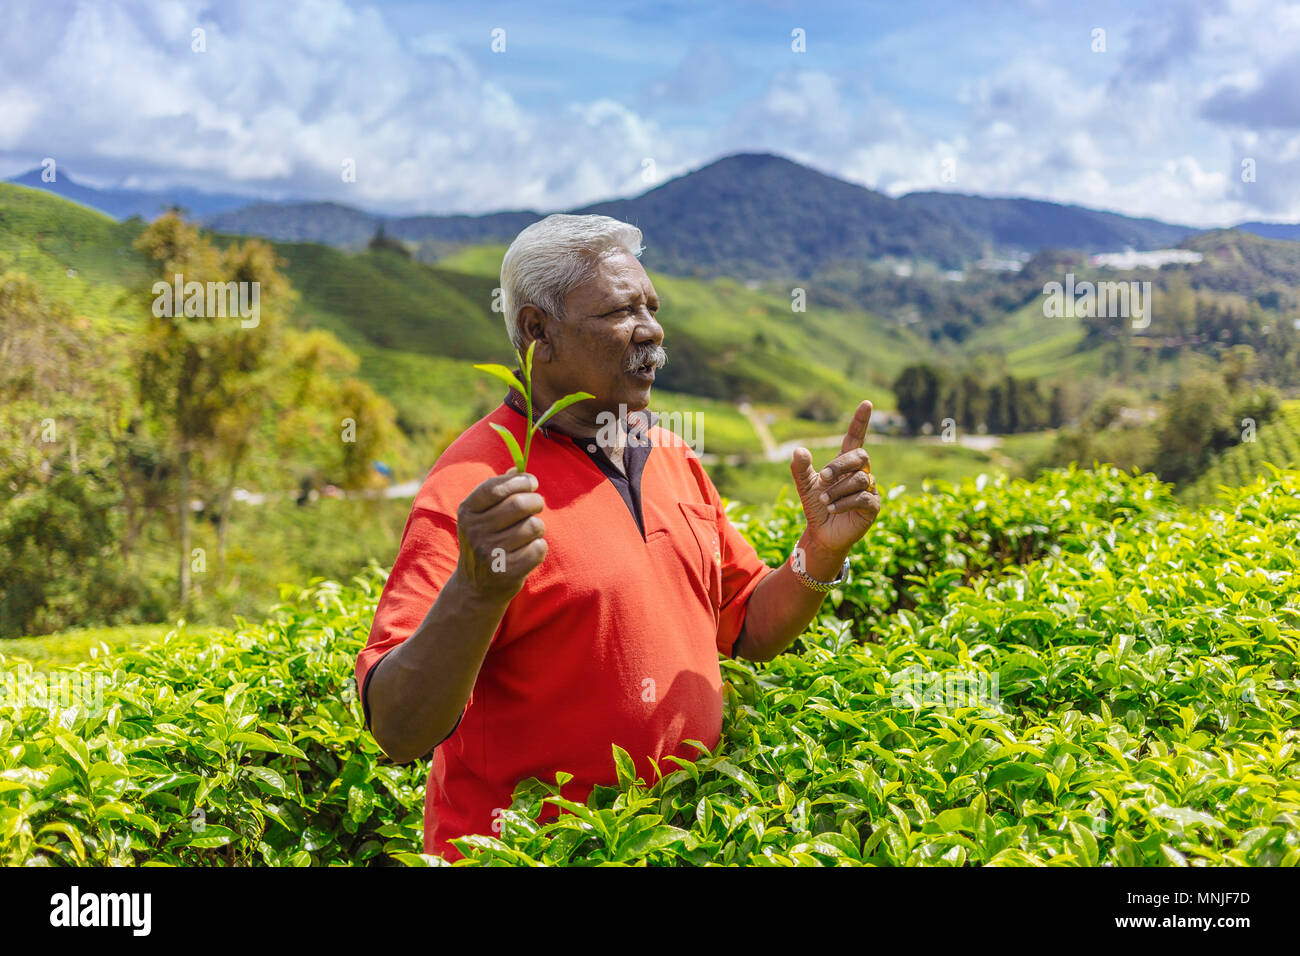
{"type": "MultiPolygon", "coordinates": [[[[361,730],[352,670],[382,589],[313,581],[264,624],[55,669],[103,704],[32,704],[9,662],[0,847],[13,864],[364,864],[422,845],[425,771],[361,730]],[[84,679],[82,679],[84,685],[84,679]],[[14,701],[16,692],[27,700],[14,701]]],[[[107,650],[107,648],[105,648],[107,650]]],[[[68,695],[72,697],[72,695],[68,695]]]]}

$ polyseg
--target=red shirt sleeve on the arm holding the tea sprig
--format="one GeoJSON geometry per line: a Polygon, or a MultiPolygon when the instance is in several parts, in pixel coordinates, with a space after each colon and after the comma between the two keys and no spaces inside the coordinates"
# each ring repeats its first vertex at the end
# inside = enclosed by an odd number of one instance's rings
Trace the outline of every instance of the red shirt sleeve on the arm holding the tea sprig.
{"type": "Polygon", "coordinates": [[[406,531],[402,532],[396,561],[374,610],[370,636],[356,658],[356,685],[367,728],[370,727],[367,691],[374,665],[410,637],[424,620],[456,570],[459,558],[456,519],[419,506],[412,509],[406,531]]]}

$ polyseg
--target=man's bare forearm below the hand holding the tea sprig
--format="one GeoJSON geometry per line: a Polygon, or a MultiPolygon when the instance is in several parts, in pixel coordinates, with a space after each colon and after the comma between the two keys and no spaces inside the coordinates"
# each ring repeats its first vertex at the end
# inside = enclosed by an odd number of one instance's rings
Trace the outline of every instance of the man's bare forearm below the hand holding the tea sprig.
{"type": "Polygon", "coordinates": [[[411,636],[370,674],[370,730],[399,763],[451,732],[474,688],[508,601],[489,601],[454,572],[411,636]]]}

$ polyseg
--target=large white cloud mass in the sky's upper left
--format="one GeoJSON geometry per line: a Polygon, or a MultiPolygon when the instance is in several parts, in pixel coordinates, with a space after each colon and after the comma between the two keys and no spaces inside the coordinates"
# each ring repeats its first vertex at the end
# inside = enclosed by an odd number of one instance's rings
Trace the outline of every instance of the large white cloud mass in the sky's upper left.
{"type": "Polygon", "coordinates": [[[636,186],[655,127],[602,99],[523,108],[436,36],[404,42],[370,7],[130,0],[40,7],[0,38],[0,152],[98,164],[133,183],[318,195],[400,212],[555,208],[636,186]],[[191,51],[191,30],[207,52],[191,51]],[[42,57],[17,56],[34,38],[42,57]],[[13,69],[14,65],[22,69],[13,69]],[[34,117],[57,122],[34,122],[34,117]],[[342,163],[356,163],[344,183],[342,163]]]}

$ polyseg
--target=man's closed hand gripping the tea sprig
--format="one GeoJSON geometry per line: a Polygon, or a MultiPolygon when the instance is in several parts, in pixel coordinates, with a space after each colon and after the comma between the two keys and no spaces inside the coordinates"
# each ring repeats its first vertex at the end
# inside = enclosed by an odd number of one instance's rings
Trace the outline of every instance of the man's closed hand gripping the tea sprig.
{"type": "Polygon", "coordinates": [[[508,602],[546,557],[545,502],[537,479],[511,466],[465,496],[456,510],[456,574],[474,593],[508,602]]]}

